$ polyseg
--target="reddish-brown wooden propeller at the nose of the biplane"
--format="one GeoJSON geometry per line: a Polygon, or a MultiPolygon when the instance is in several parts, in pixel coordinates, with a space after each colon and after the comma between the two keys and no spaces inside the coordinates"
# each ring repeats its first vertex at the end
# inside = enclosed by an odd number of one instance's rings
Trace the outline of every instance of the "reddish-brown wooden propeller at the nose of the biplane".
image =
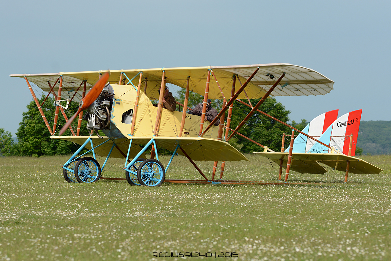
{"type": "Polygon", "coordinates": [[[99,79],[99,81],[97,83],[95,83],[95,85],[92,87],[92,89],[87,93],[86,96],[84,96],[84,98],[81,100],[80,104],[79,104],[79,109],[77,110],[77,112],[74,114],[74,116],[72,116],[68,122],[61,128],[60,132],[59,132],[59,136],[61,136],[66,129],[68,129],[68,127],[71,125],[72,121],[75,120],[76,116],[84,111],[85,109],[88,109],[88,107],[90,107],[90,105],[99,97],[99,94],[102,92],[103,88],[104,88],[104,85],[106,84],[107,80],[109,79],[109,72],[106,72],[105,74],[103,74],[103,76],[99,79]]]}

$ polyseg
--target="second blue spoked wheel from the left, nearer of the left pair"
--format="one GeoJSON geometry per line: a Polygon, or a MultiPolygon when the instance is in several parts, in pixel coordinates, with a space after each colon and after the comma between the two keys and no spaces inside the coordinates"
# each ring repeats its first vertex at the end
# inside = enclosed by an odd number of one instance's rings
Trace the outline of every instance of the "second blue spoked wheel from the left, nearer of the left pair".
{"type": "Polygon", "coordinates": [[[95,182],[100,178],[100,166],[96,159],[85,157],[75,165],[75,177],[80,183],[95,182]]]}

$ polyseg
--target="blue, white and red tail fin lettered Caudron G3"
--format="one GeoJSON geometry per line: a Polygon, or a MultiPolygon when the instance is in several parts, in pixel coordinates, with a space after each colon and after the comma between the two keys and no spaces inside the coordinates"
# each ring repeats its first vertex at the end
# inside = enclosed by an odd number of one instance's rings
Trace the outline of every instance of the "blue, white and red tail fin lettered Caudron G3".
{"type": "MultiPolygon", "coordinates": [[[[350,134],[353,134],[352,151],[350,155],[355,155],[357,135],[359,134],[360,120],[362,110],[346,113],[335,120],[330,127],[322,134],[319,141],[334,147],[345,155],[349,154],[350,134]]],[[[330,153],[327,147],[315,143],[308,152],[312,153],[330,153]]]]}

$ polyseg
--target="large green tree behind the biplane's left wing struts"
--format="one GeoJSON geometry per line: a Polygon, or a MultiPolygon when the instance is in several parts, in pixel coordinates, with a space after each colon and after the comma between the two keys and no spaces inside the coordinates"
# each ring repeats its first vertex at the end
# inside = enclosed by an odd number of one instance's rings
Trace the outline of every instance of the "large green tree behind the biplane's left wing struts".
{"type": "MultiPolygon", "coordinates": [[[[42,104],[45,96],[43,95],[39,99],[39,103],[42,104]]],[[[78,103],[70,102],[66,114],[68,118],[77,110],[78,103]]],[[[54,105],[54,98],[48,97],[42,106],[42,110],[47,118],[50,128],[53,128],[54,114],[56,107],[54,105]]],[[[56,134],[58,134],[61,127],[65,124],[65,120],[61,111],[59,111],[56,134]]],[[[74,121],[73,129],[76,132],[77,120],[74,121]]],[[[79,145],[75,145],[69,141],[50,139],[50,132],[47,129],[45,122],[42,119],[41,114],[37,108],[36,103],[31,101],[27,105],[27,112],[23,112],[23,120],[19,123],[17,144],[17,154],[20,156],[43,156],[43,155],[68,155],[76,151],[79,145]]],[[[72,135],[70,130],[66,130],[63,136],[72,135]]],[[[85,123],[82,123],[80,135],[88,135],[86,131],[85,123]]]]}

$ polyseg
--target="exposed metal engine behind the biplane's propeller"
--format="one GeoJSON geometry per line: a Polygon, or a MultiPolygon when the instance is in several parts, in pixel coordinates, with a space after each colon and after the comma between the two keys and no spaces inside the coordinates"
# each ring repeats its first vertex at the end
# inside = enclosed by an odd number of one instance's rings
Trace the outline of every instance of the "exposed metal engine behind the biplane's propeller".
{"type": "Polygon", "coordinates": [[[98,130],[108,129],[110,126],[110,111],[113,106],[114,90],[110,83],[107,83],[98,98],[88,107],[85,115],[87,129],[98,130]]]}

